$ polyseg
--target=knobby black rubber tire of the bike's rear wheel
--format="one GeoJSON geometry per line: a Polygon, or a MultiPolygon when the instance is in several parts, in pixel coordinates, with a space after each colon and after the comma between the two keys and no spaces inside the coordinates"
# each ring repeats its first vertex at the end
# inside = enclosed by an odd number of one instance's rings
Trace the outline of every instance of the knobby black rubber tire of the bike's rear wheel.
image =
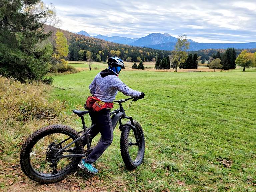
{"type": "MultiPolygon", "coordinates": [[[[53,183],[53,182],[57,182],[64,179],[68,174],[76,170],[77,164],[81,161],[81,158],[82,158],[82,157],[75,158],[72,164],[73,168],[67,169],[62,174],[59,174],[57,176],[44,177],[37,174],[30,165],[29,156],[30,156],[31,149],[38,142],[39,139],[52,133],[66,133],[69,136],[72,136],[73,140],[75,140],[80,136],[74,129],[72,129],[69,126],[50,125],[50,126],[39,129],[38,131],[34,132],[32,135],[28,137],[28,139],[22,145],[22,149],[20,152],[20,165],[21,165],[22,171],[25,173],[26,176],[28,176],[30,179],[37,181],[39,183],[53,183]]],[[[79,150],[83,149],[83,143],[81,139],[78,140],[75,143],[75,145],[76,145],[76,149],[79,149],[79,150]]]]}

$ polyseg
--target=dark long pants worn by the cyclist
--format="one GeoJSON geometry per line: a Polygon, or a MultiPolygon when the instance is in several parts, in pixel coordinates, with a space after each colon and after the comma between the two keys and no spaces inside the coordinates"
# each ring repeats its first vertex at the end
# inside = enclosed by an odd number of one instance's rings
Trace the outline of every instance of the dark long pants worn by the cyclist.
{"type": "Polygon", "coordinates": [[[102,139],[95,146],[93,151],[85,158],[85,162],[95,162],[113,141],[113,128],[110,118],[110,109],[102,109],[99,112],[90,112],[92,125],[95,126],[88,132],[90,143],[92,139],[101,134],[102,139]]]}

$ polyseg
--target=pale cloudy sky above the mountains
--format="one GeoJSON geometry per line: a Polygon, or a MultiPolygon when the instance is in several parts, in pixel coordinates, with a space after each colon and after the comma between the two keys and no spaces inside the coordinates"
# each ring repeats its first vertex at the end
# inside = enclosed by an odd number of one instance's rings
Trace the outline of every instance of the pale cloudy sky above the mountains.
{"type": "Polygon", "coordinates": [[[196,42],[256,42],[255,0],[42,0],[61,29],[137,38],[186,34],[196,42]]]}

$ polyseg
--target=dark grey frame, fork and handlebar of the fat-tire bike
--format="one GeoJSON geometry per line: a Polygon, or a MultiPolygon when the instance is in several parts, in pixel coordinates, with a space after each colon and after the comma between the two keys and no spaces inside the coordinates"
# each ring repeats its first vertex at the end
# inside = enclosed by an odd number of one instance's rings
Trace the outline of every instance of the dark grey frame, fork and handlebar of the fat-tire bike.
{"type": "MultiPolygon", "coordinates": [[[[119,103],[119,109],[116,109],[114,111],[112,111],[110,113],[110,115],[112,116],[111,117],[111,122],[112,122],[112,127],[113,127],[113,131],[117,125],[117,123],[119,122],[119,129],[122,131],[122,128],[123,126],[130,126],[131,129],[134,129],[134,124],[133,124],[133,119],[132,117],[128,117],[126,116],[125,114],[125,110],[122,106],[122,103],[127,101],[127,100],[130,100],[130,99],[134,99],[134,97],[131,97],[131,98],[128,98],[128,99],[121,99],[121,100],[118,100],[118,101],[114,101],[114,102],[118,102],[119,103]],[[129,119],[131,121],[131,125],[129,124],[122,124],[122,119],[129,119]]],[[[66,145],[65,147],[63,147],[62,149],[60,149],[56,154],[55,154],[55,157],[56,158],[69,158],[69,157],[85,157],[86,156],[86,153],[81,153],[81,154],[69,154],[69,155],[59,155],[61,152],[63,152],[65,149],[67,149],[69,146],[71,146],[73,143],[77,142],[79,139],[81,139],[82,137],[85,136],[85,139],[86,139],[86,145],[87,145],[87,150],[90,150],[91,146],[90,146],[90,142],[89,142],[89,138],[88,138],[88,131],[90,129],[92,129],[95,124],[93,124],[92,126],[90,126],[89,128],[86,127],[85,125],[85,122],[84,122],[84,116],[80,116],[81,117],[81,120],[82,120],[82,124],[83,124],[83,130],[84,130],[84,133],[78,137],[77,139],[75,139],[74,141],[72,141],[71,143],[69,143],[68,145],[66,145]]],[[[63,140],[62,142],[58,143],[58,145],[61,145],[62,143],[64,143],[65,141],[71,139],[71,137],[63,140]]],[[[138,142],[138,138],[136,137],[136,141],[138,142]]],[[[75,150],[66,150],[66,152],[72,152],[72,151],[75,151],[75,150]]]]}

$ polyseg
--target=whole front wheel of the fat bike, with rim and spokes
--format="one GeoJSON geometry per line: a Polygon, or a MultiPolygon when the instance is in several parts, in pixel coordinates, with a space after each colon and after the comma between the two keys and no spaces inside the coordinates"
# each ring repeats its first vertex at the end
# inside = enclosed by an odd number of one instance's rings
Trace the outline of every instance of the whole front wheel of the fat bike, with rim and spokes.
{"type": "Polygon", "coordinates": [[[128,169],[138,167],[142,163],[145,153],[145,138],[142,127],[136,121],[134,121],[134,127],[132,129],[130,126],[124,126],[120,139],[122,159],[128,169]]]}

